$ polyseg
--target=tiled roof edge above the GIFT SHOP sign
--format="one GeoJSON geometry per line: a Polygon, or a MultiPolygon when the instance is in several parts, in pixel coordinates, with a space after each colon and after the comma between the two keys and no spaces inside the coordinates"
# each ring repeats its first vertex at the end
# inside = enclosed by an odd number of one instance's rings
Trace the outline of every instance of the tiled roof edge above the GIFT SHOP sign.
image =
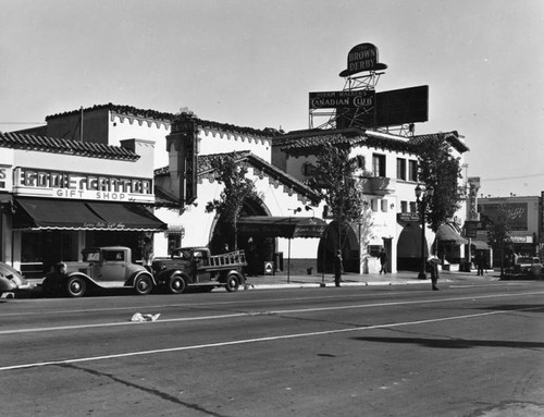
{"type": "Polygon", "coordinates": [[[139,156],[121,146],[59,139],[21,133],[0,132],[0,147],[36,150],[41,152],[69,154],[89,158],[124,159],[135,161],[139,156]]]}

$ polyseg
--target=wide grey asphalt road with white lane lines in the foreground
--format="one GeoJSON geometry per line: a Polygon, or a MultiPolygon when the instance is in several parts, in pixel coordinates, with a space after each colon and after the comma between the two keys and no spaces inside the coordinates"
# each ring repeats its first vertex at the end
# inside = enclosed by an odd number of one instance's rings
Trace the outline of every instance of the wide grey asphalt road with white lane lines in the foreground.
{"type": "Polygon", "coordinates": [[[544,415],[544,283],[441,290],[2,301],[0,414],[544,415]]]}

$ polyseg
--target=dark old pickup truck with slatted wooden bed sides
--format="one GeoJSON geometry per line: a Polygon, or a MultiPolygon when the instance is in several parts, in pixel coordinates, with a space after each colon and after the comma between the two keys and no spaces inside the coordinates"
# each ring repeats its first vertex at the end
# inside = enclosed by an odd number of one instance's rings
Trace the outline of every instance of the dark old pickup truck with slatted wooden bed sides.
{"type": "Polygon", "coordinates": [[[247,266],[244,250],[211,255],[207,247],[181,247],[170,258],[158,258],[152,269],[159,286],[181,294],[189,286],[211,291],[224,286],[235,292],[246,283],[243,269],[247,266]]]}

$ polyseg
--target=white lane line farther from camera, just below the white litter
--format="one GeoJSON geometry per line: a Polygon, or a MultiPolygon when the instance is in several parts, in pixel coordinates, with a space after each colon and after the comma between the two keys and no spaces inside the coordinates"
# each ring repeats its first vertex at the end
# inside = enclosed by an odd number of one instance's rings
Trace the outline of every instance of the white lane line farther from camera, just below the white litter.
{"type": "MultiPolygon", "coordinates": [[[[432,298],[432,299],[421,299],[421,301],[386,302],[386,303],[357,304],[357,305],[335,306],[335,307],[296,308],[296,309],[285,309],[285,310],[258,310],[258,311],[248,311],[248,312],[233,312],[233,314],[227,314],[227,315],[161,319],[158,321],[149,321],[149,322],[114,321],[114,322],[94,323],[94,324],[73,324],[73,326],[59,326],[59,327],[47,327],[47,328],[13,329],[13,330],[1,330],[0,335],[33,333],[33,332],[51,332],[51,331],[62,331],[62,330],[94,329],[94,328],[96,329],[96,328],[109,328],[109,327],[119,327],[119,326],[143,326],[143,324],[150,326],[150,324],[181,322],[181,321],[219,320],[219,319],[231,319],[231,318],[237,318],[237,317],[252,317],[252,316],[263,316],[263,315],[274,316],[274,315],[285,315],[285,314],[304,314],[304,312],[316,312],[316,311],[346,310],[346,309],[355,309],[355,308],[390,307],[390,306],[403,306],[403,305],[413,305],[413,304],[420,305],[420,304],[432,304],[432,303],[458,302],[458,301],[467,301],[467,299],[486,299],[486,298],[512,297],[512,296],[521,296],[521,295],[523,295],[523,296],[524,295],[541,295],[541,294],[544,294],[544,292],[479,295],[479,296],[452,297],[452,298],[432,298]]],[[[146,307],[146,309],[148,309],[148,308],[146,307]]]]}

